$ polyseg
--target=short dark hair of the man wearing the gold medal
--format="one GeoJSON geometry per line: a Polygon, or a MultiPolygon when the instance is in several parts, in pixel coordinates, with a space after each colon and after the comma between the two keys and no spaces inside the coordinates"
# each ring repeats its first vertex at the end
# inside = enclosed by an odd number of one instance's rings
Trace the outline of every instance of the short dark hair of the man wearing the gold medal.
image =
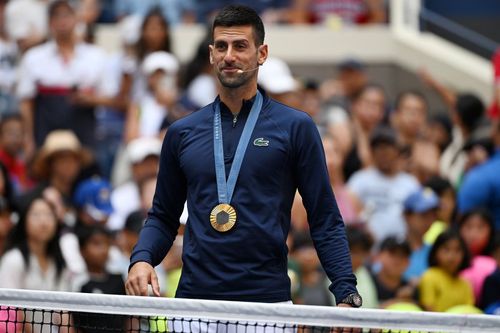
{"type": "Polygon", "coordinates": [[[252,26],[255,45],[264,44],[264,24],[255,10],[243,5],[224,7],[214,19],[212,36],[216,27],[252,26]]]}

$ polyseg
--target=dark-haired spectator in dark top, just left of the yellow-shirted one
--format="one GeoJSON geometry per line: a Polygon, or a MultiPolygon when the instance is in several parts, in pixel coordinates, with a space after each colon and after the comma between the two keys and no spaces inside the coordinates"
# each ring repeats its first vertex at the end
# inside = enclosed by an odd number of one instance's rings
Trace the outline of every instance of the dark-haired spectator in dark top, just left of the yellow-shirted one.
{"type": "Polygon", "coordinates": [[[407,241],[396,237],[387,237],[380,244],[376,255],[372,278],[377,289],[380,307],[399,301],[411,301],[413,289],[403,278],[408,268],[411,249],[407,241]]]}

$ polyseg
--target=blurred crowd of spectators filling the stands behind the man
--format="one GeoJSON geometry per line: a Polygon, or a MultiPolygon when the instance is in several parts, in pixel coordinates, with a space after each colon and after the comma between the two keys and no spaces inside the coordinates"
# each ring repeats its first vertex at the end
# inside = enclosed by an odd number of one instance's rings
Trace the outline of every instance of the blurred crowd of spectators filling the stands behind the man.
{"type": "MultiPolygon", "coordinates": [[[[227,2],[0,0],[0,287],[124,294],[162,138],[217,95],[209,34],[182,64],[171,28],[207,23],[227,2]],[[97,23],[120,25],[119,52],[93,43],[97,23]]],[[[279,24],[383,23],[387,13],[383,0],[240,2],[279,24]]],[[[277,58],[259,69],[263,91],[318,125],[365,307],[499,311],[495,62],[494,101],[422,70],[440,112],[419,90],[390,99],[356,59],[321,81],[277,58]]],[[[298,193],[291,219],[293,301],[335,304],[298,193]]],[[[165,296],[180,277],[182,229],[157,267],[165,296]]]]}

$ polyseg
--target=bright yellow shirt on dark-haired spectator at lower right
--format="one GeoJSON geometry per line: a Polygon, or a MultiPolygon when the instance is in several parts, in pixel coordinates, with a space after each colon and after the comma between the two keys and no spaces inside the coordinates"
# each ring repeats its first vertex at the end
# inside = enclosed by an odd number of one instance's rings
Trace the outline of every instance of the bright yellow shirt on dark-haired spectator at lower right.
{"type": "Polygon", "coordinates": [[[420,303],[424,308],[444,312],[455,305],[474,305],[469,283],[439,267],[429,268],[420,280],[420,303]]]}

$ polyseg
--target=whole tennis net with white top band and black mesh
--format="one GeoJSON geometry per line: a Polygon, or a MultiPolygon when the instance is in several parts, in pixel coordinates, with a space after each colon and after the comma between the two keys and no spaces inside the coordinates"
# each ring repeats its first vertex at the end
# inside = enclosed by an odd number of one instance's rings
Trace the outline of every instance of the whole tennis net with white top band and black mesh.
{"type": "Polygon", "coordinates": [[[0,289],[3,332],[499,332],[500,316],[0,289]]]}

